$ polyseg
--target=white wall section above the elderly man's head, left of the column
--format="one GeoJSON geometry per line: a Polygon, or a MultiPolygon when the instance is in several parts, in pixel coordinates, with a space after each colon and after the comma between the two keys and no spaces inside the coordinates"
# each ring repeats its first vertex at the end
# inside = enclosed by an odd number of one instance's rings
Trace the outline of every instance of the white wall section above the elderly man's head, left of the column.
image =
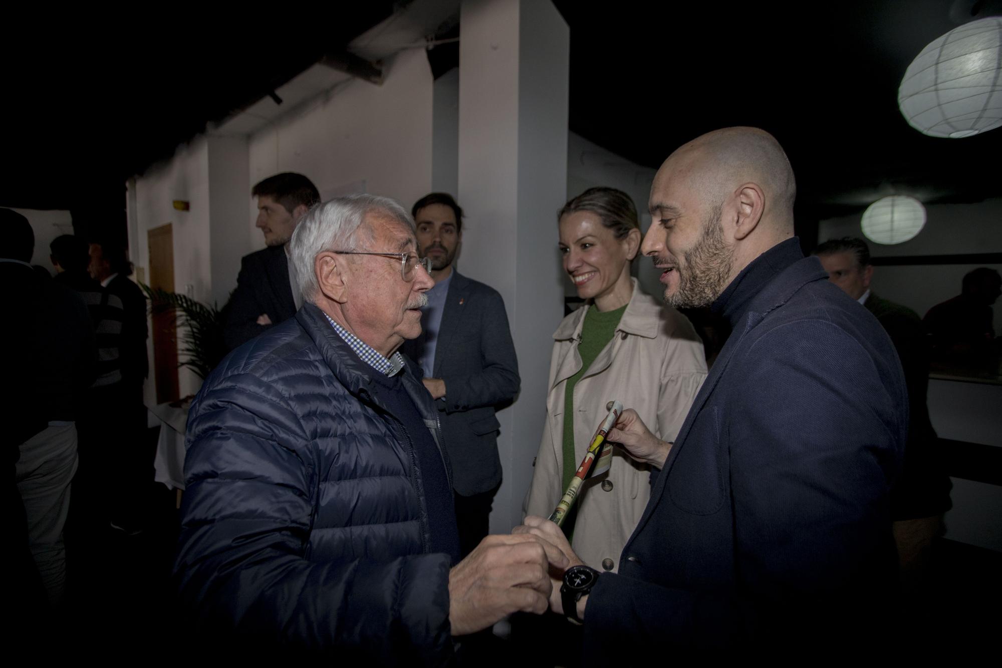
{"type": "Polygon", "coordinates": [[[363,190],[410,211],[432,188],[432,71],[421,49],[384,63],[383,85],[352,79],[248,140],[247,248],[265,247],[250,186],[299,172],[324,198],[363,190]]]}

